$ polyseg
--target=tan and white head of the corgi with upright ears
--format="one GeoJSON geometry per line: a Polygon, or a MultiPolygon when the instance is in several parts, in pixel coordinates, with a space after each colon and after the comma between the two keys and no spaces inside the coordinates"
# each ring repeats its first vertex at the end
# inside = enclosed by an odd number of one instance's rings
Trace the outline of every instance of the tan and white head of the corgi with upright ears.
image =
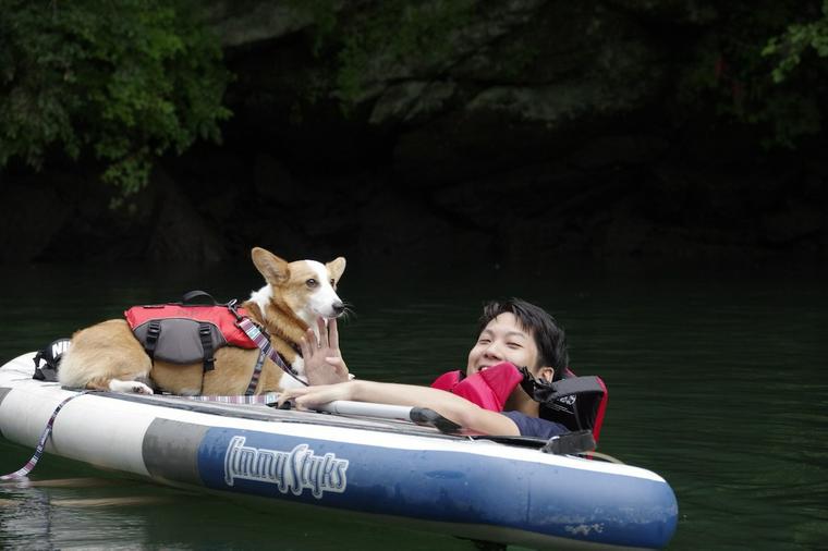
{"type": "Polygon", "coordinates": [[[345,311],[345,305],[337,295],[337,283],[345,271],[343,257],[328,264],[316,260],[288,262],[260,247],[255,247],[251,256],[267,282],[251,296],[263,313],[272,302],[313,325],[316,318],[336,318],[345,311]]]}

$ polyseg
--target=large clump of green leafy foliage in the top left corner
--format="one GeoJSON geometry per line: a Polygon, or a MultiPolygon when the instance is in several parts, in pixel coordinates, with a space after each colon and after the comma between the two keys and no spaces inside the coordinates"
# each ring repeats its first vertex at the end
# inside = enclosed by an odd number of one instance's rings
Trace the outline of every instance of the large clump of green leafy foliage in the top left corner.
{"type": "Polygon", "coordinates": [[[122,195],[159,156],[220,139],[221,48],[187,1],[0,1],[0,168],[102,161],[122,195]]]}

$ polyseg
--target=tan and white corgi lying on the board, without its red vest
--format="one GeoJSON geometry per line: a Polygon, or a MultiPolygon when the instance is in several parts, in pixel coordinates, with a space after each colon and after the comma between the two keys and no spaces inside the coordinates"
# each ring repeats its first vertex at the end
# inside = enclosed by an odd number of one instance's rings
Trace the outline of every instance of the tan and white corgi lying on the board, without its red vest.
{"type": "MultiPolygon", "coordinates": [[[[345,259],[328,264],[316,260],[288,262],[264,248],[253,248],[253,265],[265,278],[241,306],[252,321],[270,335],[270,344],[300,377],[304,363],[299,343],[319,317],[339,317],[345,306],[337,295],[337,283],[345,259]]],[[[317,329],[314,329],[315,331],[317,329]]],[[[151,359],[124,319],[111,319],[72,335],[63,354],[58,381],[64,387],[153,394],[150,382],[161,391],[182,395],[244,394],[259,358],[258,348],[222,346],[214,355],[215,369],[202,363],[179,365],[151,359]]],[[[261,366],[255,394],[300,385],[269,357],[261,366]]]]}

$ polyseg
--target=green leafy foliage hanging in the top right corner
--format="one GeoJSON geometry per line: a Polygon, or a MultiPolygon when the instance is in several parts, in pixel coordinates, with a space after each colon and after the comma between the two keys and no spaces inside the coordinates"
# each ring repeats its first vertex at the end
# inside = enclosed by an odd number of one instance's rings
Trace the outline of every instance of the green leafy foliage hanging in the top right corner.
{"type": "Polygon", "coordinates": [[[795,148],[819,133],[828,65],[812,59],[794,75],[806,50],[828,56],[828,0],[819,3],[819,20],[813,1],[731,4],[698,42],[680,84],[682,103],[714,106],[719,123],[754,126],[766,147],[795,148]],[[790,23],[803,17],[812,20],[790,23]]]}

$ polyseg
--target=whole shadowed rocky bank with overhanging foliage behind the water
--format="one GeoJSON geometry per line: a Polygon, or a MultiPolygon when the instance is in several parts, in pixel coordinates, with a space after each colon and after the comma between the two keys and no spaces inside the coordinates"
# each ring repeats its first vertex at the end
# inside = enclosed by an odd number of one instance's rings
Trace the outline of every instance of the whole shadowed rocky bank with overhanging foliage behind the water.
{"type": "Polygon", "coordinates": [[[826,259],[820,1],[2,5],[5,261],[826,259]]]}

